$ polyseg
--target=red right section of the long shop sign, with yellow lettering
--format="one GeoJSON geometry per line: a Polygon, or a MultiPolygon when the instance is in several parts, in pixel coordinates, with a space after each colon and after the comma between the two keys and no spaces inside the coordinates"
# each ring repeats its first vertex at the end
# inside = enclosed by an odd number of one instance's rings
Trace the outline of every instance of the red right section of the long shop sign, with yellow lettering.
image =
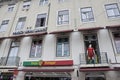
{"type": "Polygon", "coordinates": [[[44,61],[42,66],[72,66],[73,60],[44,61]]]}

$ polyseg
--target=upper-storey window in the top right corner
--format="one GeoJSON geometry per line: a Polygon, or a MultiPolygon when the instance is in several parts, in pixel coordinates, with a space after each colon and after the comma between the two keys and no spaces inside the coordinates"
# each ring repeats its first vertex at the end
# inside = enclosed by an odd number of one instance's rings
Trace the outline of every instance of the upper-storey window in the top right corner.
{"type": "Polygon", "coordinates": [[[108,4],[105,5],[108,18],[117,18],[120,17],[120,10],[118,9],[117,4],[108,4]]]}

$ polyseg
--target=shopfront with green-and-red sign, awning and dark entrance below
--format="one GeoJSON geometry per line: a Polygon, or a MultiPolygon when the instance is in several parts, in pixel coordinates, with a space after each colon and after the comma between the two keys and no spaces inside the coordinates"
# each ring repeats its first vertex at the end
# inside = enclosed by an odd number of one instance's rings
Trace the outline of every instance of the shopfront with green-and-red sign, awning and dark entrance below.
{"type": "Polygon", "coordinates": [[[24,61],[24,80],[71,80],[73,60],[24,61]]]}

